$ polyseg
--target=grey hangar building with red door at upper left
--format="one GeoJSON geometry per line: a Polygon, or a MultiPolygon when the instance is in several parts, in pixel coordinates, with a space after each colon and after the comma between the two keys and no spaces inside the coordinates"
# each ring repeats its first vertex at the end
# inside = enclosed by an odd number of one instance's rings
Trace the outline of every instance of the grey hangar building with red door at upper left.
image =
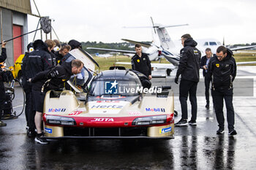
{"type": "MultiPolygon", "coordinates": [[[[28,14],[31,15],[30,0],[0,0],[0,36],[2,40],[28,32],[28,14]]],[[[20,54],[26,52],[28,36],[7,42],[7,66],[13,66],[20,54]]]]}

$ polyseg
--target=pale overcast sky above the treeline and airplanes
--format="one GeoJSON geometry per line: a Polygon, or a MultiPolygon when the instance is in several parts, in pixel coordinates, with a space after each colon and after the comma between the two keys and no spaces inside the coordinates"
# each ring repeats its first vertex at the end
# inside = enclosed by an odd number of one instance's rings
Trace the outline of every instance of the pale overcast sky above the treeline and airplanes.
{"type": "MultiPolygon", "coordinates": [[[[255,0],[34,0],[41,16],[50,16],[61,42],[122,42],[122,38],[152,41],[151,28],[124,26],[177,25],[167,28],[171,39],[191,34],[194,39],[215,38],[225,44],[256,42],[255,0]]],[[[31,0],[32,12],[38,15],[31,0]]],[[[29,15],[29,31],[38,18],[29,15]]],[[[29,41],[34,37],[30,34],[29,41]]],[[[40,37],[37,36],[37,39],[40,37]]],[[[45,35],[43,36],[45,39],[45,35]]],[[[53,34],[53,39],[56,36],[53,34]]]]}

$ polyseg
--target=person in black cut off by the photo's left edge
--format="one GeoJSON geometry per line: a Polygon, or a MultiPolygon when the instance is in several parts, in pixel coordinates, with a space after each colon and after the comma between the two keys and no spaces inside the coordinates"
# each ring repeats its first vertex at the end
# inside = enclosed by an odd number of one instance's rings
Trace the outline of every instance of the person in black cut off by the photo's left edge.
{"type": "MultiPolygon", "coordinates": [[[[7,58],[7,50],[5,48],[6,42],[1,42],[1,55],[0,55],[0,63],[4,62],[7,58]]],[[[1,70],[0,67],[0,126],[5,126],[7,125],[6,123],[3,123],[1,121],[1,115],[3,114],[3,105],[5,101],[5,90],[4,90],[4,75],[3,71],[1,70]]]]}

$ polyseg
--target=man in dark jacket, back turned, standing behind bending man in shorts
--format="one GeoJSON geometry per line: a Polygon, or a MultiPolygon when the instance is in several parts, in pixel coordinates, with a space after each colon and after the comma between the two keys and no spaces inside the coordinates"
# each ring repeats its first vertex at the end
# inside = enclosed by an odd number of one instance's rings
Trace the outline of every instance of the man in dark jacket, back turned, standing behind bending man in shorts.
{"type": "MultiPolygon", "coordinates": [[[[33,43],[34,51],[29,53],[29,55],[23,59],[23,72],[26,74],[26,80],[23,82],[27,82],[29,79],[34,77],[37,73],[48,70],[52,67],[52,60],[50,57],[50,53],[48,50],[48,45],[45,42],[42,42],[41,39],[37,39],[33,43]],[[25,60],[25,61],[24,61],[25,60]]],[[[31,83],[26,86],[26,90],[31,90],[31,83]]],[[[33,96],[29,98],[29,105],[34,106],[33,96]]],[[[28,136],[34,136],[34,115],[35,111],[32,109],[29,112],[29,131],[28,136]]]]}

